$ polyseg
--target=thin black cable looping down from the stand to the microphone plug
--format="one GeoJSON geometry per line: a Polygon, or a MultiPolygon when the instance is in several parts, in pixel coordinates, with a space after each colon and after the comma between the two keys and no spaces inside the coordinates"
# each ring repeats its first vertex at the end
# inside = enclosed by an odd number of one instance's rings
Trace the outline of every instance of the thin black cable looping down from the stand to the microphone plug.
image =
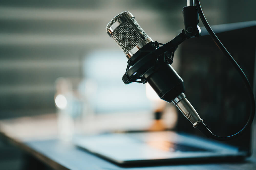
{"type": "Polygon", "coordinates": [[[230,55],[230,53],[228,52],[228,50],[223,46],[223,44],[220,42],[219,38],[216,36],[216,34],[213,32],[213,30],[211,29],[209,23],[207,22],[204,13],[202,11],[201,5],[199,0],[195,0],[195,4],[197,7],[197,11],[198,14],[201,18],[202,23],[204,24],[206,30],[209,32],[212,40],[215,42],[215,44],[218,46],[218,48],[221,50],[221,52],[228,58],[228,60],[232,63],[232,65],[234,66],[234,68],[237,70],[237,72],[239,73],[239,75],[241,76],[247,90],[250,96],[250,100],[251,100],[251,109],[250,109],[250,116],[249,119],[246,123],[246,125],[236,134],[233,134],[231,136],[217,136],[214,135],[206,126],[205,124],[202,122],[200,124],[198,124],[197,128],[204,133],[207,137],[216,139],[216,140],[231,140],[233,138],[236,138],[237,136],[241,135],[246,129],[248,129],[250,127],[250,125],[253,122],[253,118],[255,115],[255,99],[254,99],[254,95],[253,95],[253,90],[252,87],[250,85],[250,82],[248,81],[246,75],[244,74],[243,70],[240,68],[240,66],[238,65],[238,63],[234,60],[234,58],[230,55]]]}

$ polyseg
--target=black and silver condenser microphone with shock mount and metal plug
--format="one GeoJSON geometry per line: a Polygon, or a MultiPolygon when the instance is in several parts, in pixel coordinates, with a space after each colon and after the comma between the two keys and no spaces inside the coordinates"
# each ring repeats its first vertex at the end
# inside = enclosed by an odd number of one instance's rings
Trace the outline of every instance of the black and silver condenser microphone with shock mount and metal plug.
{"type": "Polygon", "coordinates": [[[159,47],[129,11],[114,17],[106,26],[106,32],[128,58],[122,78],[125,84],[139,82],[137,79],[148,82],[161,99],[173,102],[194,127],[203,121],[184,94],[184,81],[170,65],[177,47],[159,47]]]}

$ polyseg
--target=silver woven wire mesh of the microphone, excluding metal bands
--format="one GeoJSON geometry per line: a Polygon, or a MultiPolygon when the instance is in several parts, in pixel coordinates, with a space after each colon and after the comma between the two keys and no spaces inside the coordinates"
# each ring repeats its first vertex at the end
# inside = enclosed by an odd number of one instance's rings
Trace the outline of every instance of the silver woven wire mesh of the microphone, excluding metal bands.
{"type": "MultiPolygon", "coordinates": [[[[106,30],[108,30],[116,21],[118,21],[120,18],[122,18],[124,15],[127,15],[128,13],[130,12],[124,11],[117,15],[115,18],[113,18],[106,26],[106,30]]],[[[141,33],[145,36],[145,38],[148,38],[149,36],[140,27],[135,18],[131,18],[131,20],[134,22],[136,27],[141,31],[141,33]]],[[[128,54],[133,49],[133,47],[135,47],[144,40],[140,37],[140,35],[138,35],[138,33],[135,31],[135,29],[128,21],[121,23],[112,32],[111,37],[115,40],[115,42],[119,45],[119,47],[123,50],[125,54],[128,54]]]]}

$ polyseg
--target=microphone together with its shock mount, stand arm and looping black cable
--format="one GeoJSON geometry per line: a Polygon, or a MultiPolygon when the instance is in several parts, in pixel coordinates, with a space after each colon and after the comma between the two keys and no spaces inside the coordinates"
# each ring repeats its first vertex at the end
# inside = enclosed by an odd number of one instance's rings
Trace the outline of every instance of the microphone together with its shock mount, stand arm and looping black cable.
{"type": "Polygon", "coordinates": [[[243,70],[212,31],[203,14],[199,0],[195,0],[195,3],[196,6],[194,6],[194,1],[187,0],[188,6],[183,7],[182,10],[185,28],[182,30],[182,33],[165,44],[153,41],[129,11],[121,12],[114,17],[106,26],[106,31],[128,58],[128,65],[122,77],[125,84],[131,82],[148,82],[161,99],[167,102],[173,102],[193,124],[193,127],[197,127],[207,137],[216,140],[230,140],[245,132],[253,121],[255,114],[253,90],[243,70]],[[200,36],[201,30],[197,25],[199,16],[211,38],[242,77],[251,99],[251,113],[246,125],[238,133],[231,136],[218,136],[207,128],[184,94],[184,81],[171,66],[174,52],[178,45],[187,38],[200,36]],[[138,79],[141,81],[138,81],[138,79]]]}

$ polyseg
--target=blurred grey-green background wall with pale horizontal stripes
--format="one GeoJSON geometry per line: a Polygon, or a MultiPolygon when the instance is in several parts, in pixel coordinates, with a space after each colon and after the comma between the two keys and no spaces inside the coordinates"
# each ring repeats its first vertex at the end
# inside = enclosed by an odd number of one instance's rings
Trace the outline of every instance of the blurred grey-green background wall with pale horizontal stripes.
{"type": "MultiPolygon", "coordinates": [[[[211,25],[256,19],[253,0],[204,0],[201,5],[211,25]]],[[[153,40],[165,43],[183,28],[183,6],[185,0],[2,0],[0,118],[55,112],[58,77],[82,77],[81,61],[95,49],[119,50],[105,26],[120,12],[132,12],[153,40]]]]}

